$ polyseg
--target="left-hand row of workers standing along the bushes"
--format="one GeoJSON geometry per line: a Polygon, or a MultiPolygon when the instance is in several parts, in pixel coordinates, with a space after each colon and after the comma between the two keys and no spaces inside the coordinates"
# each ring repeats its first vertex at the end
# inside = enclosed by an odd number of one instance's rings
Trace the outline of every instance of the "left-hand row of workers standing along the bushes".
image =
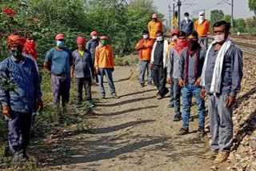
{"type": "MultiPolygon", "coordinates": [[[[112,97],[115,92],[112,72],[114,71],[114,53],[108,44],[108,37],[98,38],[96,31],[91,32],[91,39],[76,39],[77,50],[71,52],[65,46],[65,35],[55,36],[56,46],[47,51],[44,66],[50,70],[54,96],[54,109],[66,109],[70,100],[71,79],[75,78],[77,87],[77,106],[83,101],[83,87],[86,101],[92,101],[92,78],[97,75],[100,93],[106,98],[103,78],[106,76],[112,97]],[[62,101],[62,103],[61,103],[62,101]]],[[[25,37],[10,34],[7,38],[10,57],[0,63],[0,101],[2,113],[9,121],[9,145],[14,156],[14,163],[28,158],[26,149],[29,145],[31,129],[34,127],[34,113],[42,110],[42,92],[38,72],[38,54],[34,36],[25,37]]],[[[62,117],[62,116],[59,116],[62,117]]]]}

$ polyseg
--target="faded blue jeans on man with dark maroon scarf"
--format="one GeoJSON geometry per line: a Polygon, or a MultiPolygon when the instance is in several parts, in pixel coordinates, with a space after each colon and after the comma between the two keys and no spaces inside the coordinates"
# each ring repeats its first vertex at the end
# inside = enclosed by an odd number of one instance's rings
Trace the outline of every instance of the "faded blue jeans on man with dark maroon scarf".
{"type": "Polygon", "coordinates": [[[187,129],[190,125],[190,107],[192,104],[192,96],[194,95],[199,114],[199,128],[204,128],[205,126],[205,101],[200,96],[201,87],[196,87],[195,85],[187,84],[183,88],[183,128],[187,129]]]}

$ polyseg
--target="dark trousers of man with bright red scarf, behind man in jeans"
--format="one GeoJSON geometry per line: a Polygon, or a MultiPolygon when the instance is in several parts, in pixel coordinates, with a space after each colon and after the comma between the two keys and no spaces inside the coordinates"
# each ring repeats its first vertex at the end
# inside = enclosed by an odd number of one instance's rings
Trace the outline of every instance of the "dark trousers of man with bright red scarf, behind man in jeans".
{"type": "Polygon", "coordinates": [[[175,116],[180,116],[182,87],[180,85],[178,85],[178,78],[173,78],[173,82],[174,82],[173,94],[174,94],[175,116]]]}

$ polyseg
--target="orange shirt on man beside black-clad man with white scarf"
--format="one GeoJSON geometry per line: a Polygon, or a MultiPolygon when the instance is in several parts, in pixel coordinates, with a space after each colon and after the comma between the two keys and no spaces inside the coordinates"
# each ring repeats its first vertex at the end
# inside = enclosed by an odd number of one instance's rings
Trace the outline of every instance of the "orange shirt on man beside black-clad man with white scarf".
{"type": "Polygon", "coordinates": [[[153,39],[148,38],[140,40],[137,45],[135,46],[135,50],[139,50],[139,59],[141,61],[150,61],[151,59],[151,51],[153,47],[153,39]],[[144,46],[142,49],[140,49],[141,46],[144,46]]]}

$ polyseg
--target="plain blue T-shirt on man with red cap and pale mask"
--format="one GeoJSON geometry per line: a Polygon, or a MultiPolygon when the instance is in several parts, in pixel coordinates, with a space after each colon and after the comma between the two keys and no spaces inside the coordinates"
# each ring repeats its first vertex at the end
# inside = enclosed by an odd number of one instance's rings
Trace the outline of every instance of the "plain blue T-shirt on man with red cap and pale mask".
{"type": "Polygon", "coordinates": [[[70,74],[72,60],[72,53],[66,48],[62,51],[52,48],[46,53],[45,58],[45,62],[50,64],[50,71],[54,74],[70,74]]]}

